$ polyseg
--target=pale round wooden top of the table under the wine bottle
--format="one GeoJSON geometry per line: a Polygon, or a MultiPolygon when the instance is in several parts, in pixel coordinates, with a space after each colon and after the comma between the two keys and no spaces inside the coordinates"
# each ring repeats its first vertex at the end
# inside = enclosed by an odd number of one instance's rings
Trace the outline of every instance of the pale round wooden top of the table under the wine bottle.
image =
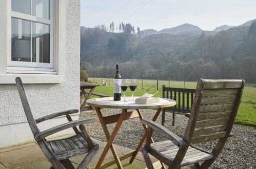
{"type": "MultiPolygon", "coordinates": [[[[136,99],[137,97],[134,97],[136,99]]],[[[126,97],[126,100],[131,100],[132,97],[126,97]]],[[[113,97],[93,98],[86,100],[86,104],[97,108],[110,108],[110,109],[159,109],[168,108],[176,104],[175,100],[160,98],[159,103],[151,104],[137,104],[134,101],[124,102],[114,101],[113,97]]]]}

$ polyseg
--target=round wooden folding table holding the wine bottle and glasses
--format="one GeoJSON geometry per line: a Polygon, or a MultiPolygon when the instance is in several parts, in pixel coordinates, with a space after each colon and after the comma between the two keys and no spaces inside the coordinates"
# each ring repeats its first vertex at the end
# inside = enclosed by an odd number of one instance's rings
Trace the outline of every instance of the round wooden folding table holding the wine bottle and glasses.
{"type": "MultiPolygon", "coordinates": [[[[134,97],[136,98],[136,97],[134,97]]],[[[128,100],[131,100],[131,97],[127,97],[128,100]]],[[[159,114],[161,113],[163,108],[167,108],[167,107],[171,107],[173,105],[176,104],[176,102],[174,100],[171,99],[160,99],[159,103],[152,103],[152,104],[136,104],[134,101],[128,101],[128,102],[123,102],[123,101],[113,101],[113,97],[103,97],[103,98],[96,98],[96,99],[89,99],[87,100],[87,104],[90,105],[91,107],[95,107],[95,110],[97,112],[97,116],[99,117],[99,120],[101,122],[103,131],[105,133],[105,136],[108,140],[105,149],[103,150],[103,153],[99,159],[99,162],[97,163],[97,165],[95,166],[95,168],[106,168],[108,166],[111,166],[113,164],[116,163],[117,167],[119,168],[123,168],[123,165],[121,163],[122,160],[131,157],[130,159],[130,163],[133,162],[134,158],[136,157],[137,153],[140,151],[140,148],[144,142],[144,140],[146,139],[147,136],[147,126],[145,124],[143,125],[143,128],[145,130],[145,134],[143,135],[139,145],[137,146],[136,150],[122,156],[119,157],[114,144],[113,144],[113,140],[117,134],[117,132],[120,129],[120,126],[122,124],[122,122],[124,120],[128,120],[128,119],[132,119],[132,118],[136,118],[139,117],[140,120],[143,119],[143,116],[141,114],[140,109],[157,109],[154,117],[153,117],[153,121],[156,121],[156,119],[159,117],[159,114]],[[109,109],[122,109],[122,113],[120,114],[115,114],[115,115],[110,115],[110,116],[103,116],[101,109],[102,108],[109,108],[109,109]],[[129,111],[129,109],[133,109],[135,111],[129,111]],[[112,131],[111,135],[107,129],[107,124],[110,123],[115,123],[115,127],[114,130],[112,131]],[[114,156],[114,160],[110,161],[104,165],[102,165],[104,158],[107,155],[108,150],[111,149],[112,154],[114,156]]],[[[153,140],[151,140],[153,142],[153,140]]]]}

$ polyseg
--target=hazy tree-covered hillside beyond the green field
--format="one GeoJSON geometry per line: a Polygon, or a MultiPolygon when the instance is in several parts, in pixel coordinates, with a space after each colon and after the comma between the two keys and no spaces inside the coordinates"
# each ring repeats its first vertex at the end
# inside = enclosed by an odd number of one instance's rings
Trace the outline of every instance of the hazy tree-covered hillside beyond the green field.
{"type": "Polygon", "coordinates": [[[214,35],[188,31],[147,36],[130,24],[117,28],[81,27],[81,63],[90,77],[112,78],[115,64],[120,64],[123,78],[256,82],[255,20],[214,35]]]}

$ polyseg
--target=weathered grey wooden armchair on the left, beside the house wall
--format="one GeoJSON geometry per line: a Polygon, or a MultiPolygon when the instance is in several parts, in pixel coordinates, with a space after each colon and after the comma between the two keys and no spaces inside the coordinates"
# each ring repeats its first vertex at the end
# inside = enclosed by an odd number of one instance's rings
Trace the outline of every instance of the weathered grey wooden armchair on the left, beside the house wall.
{"type": "Polygon", "coordinates": [[[47,160],[52,164],[51,168],[74,168],[69,158],[88,153],[77,167],[85,168],[99,150],[99,144],[92,142],[83,124],[94,122],[95,118],[89,117],[72,121],[69,114],[77,113],[78,110],[68,110],[46,115],[34,120],[21,78],[16,78],[16,85],[34,139],[45,154],[47,160]],[[62,115],[66,115],[69,122],[54,126],[43,132],[37,128],[36,123],[62,115]],[[81,132],[76,128],[77,125],[79,125],[81,132]],[[49,141],[46,139],[47,136],[68,128],[73,128],[75,132],[74,136],[49,141]]]}

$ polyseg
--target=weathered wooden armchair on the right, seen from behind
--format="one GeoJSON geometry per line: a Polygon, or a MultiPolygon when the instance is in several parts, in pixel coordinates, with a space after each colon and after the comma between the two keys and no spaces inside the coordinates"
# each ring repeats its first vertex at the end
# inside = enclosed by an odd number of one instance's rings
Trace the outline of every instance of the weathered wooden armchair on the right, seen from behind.
{"type": "Polygon", "coordinates": [[[243,88],[243,79],[200,79],[183,138],[175,135],[161,124],[142,120],[143,124],[149,126],[146,146],[142,148],[147,167],[153,168],[148,153],[168,165],[169,168],[210,167],[221,153],[229,137],[238,112],[243,88]],[[153,131],[160,132],[169,140],[150,144],[153,131]],[[218,139],[218,142],[211,152],[192,145],[213,139],[218,139]],[[201,162],[202,164],[200,164],[201,162]]]}

